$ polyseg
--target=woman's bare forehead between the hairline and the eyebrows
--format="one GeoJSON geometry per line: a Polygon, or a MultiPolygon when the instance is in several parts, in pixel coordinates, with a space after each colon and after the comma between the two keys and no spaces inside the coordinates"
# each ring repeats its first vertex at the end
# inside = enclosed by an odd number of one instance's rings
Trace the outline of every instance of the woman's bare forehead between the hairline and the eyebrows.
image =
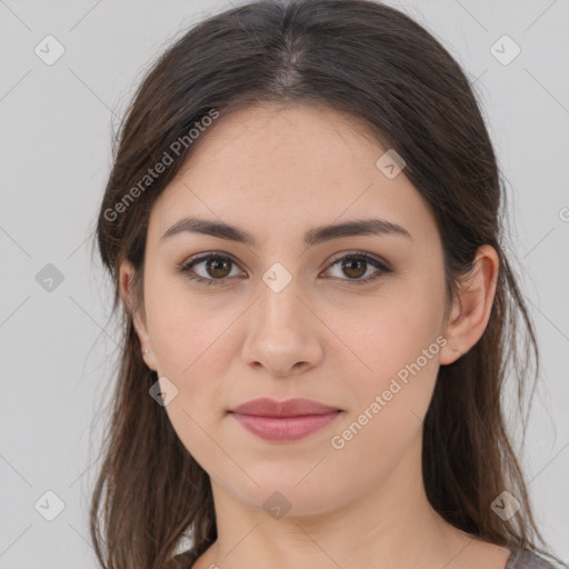
{"type": "Polygon", "coordinates": [[[153,207],[149,232],[157,238],[183,216],[254,229],[261,240],[370,216],[406,227],[413,239],[436,231],[405,170],[389,179],[378,168],[387,149],[362,119],[263,104],[222,116],[200,137],[153,207]]]}

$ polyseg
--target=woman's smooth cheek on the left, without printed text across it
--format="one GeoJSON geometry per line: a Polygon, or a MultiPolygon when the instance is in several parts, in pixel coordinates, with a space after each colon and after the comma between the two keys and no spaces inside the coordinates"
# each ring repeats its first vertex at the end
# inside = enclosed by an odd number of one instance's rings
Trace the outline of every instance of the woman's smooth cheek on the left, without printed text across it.
{"type": "Polygon", "coordinates": [[[210,471],[218,463],[230,466],[212,438],[219,438],[228,405],[223,378],[234,350],[228,327],[238,315],[231,318],[188,299],[174,291],[149,298],[148,327],[158,375],[178,389],[166,407],[169,420],[186,449],[210,471]]]}

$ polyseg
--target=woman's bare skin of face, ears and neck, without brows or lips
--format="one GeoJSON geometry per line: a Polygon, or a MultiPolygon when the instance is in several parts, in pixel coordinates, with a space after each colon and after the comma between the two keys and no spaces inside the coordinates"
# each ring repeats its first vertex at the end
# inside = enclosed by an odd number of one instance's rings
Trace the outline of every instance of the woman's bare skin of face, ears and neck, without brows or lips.
{"type": "MultiPolygon", "coordinates": [[[[365,123],[315,106],[241,109],[201,134],[189,163],[156,202],[144,259],[144,311],[134,325],[144,361],[178,395],[166,411],[212,485],[218,540],[196,569],[506,565],[509,550],[473,539],[429,505],[421,476],[422,420],[441,365],[468,351],[490,316],[498,257],[477,251],[473,276],[445,318],[442,249],[435,219],[405,170],[388,179],[386,149],[365,123]],[[239,226],[250,247],[198,233],[160,242],[180,218],[239,226]],[[379,217],[396,234],[352,236],[308,249],[306,230],[379,217]],[[214,251],[234,264],[190,281],[176,270],[214,251]],[[342,270],[339,253],[365,251],[392,272],[342,270]],[[262,277],[281,263],[291,281],[276,292],[262,277]],[[335,264],[333,264],[335,263],[335,264]],[[353,278],[356,274],[356,279],[353,278]],[[351,278],[350,278],[351,277],[351,278]],[[342,433],[397,372],[440,337],[446,345],[341,449],[342,433]],[[293,442],[264,441],[228,410],[257,397],[306,397],[342,410],[293,442]],[[283,517],[263,502],[280,492],[283,517]]],[[[120,270],[132,306],[132,267],[120,270]]],[[[160,380],[161,382],[163,380],[160,380]]]]}

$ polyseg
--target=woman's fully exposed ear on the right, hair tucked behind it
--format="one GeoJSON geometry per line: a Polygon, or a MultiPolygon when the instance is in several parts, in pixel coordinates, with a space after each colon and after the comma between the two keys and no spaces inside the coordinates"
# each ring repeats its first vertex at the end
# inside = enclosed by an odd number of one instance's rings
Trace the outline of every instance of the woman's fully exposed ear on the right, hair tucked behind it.
{"type": "Polygon", "coordinates": [[[481,338],[492,310],[498,282],[499,258],[490,244],[476,251],[472,271],[459,284],[447,322],[447,345],[440,351],[442,366],[452,363],[481,338]]]}

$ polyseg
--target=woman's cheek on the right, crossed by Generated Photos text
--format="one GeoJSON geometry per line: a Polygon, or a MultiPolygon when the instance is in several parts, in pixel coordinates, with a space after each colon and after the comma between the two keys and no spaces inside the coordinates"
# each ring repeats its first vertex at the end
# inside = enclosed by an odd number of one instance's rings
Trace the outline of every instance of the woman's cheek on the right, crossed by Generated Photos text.
{"type": "Polygon", "coordinates": [[[347,375],[352,405],[343,425],[349,432],[341,438],[350,452],[362,452],[369,445],[395,459],[415,437],[446,343],[440,333],[442,306],[442,283],[423,280],[378,303],[359,326],[351,321],[342,329],[359,360],[358,372],[347,375]]]}

